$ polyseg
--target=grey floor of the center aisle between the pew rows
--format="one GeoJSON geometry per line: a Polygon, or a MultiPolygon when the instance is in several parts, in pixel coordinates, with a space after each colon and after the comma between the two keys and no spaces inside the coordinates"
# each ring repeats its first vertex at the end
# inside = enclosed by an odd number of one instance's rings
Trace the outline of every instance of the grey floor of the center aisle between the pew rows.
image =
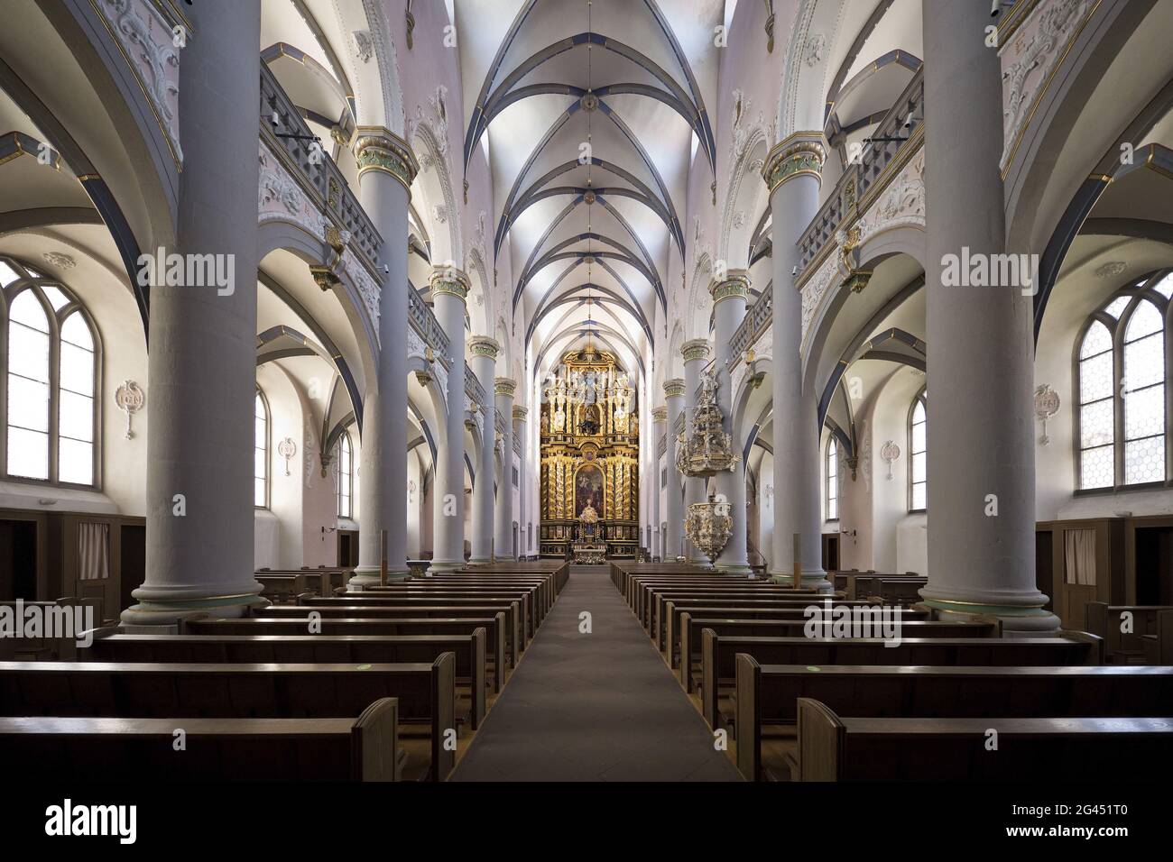
{"type": "Polygon", "coordinates": [[[571,568],[452,781],[740,781],[608,571],[571,568]]]}

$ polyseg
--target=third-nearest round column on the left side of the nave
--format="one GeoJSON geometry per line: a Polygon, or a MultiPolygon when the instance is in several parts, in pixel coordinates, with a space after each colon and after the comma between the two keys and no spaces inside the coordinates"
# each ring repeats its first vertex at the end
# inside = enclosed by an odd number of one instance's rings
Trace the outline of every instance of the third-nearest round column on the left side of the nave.
{"type": "MultiPolygon", "coordinates": [[[[465,303],[468,276],[453,266],[432,273],[433,311],[448,337],[445,441],[436,453],[436,493],[429,571],[465,568],[465,303]]],[[[406,313],[406,312],[405,312],[406,313]]]]}

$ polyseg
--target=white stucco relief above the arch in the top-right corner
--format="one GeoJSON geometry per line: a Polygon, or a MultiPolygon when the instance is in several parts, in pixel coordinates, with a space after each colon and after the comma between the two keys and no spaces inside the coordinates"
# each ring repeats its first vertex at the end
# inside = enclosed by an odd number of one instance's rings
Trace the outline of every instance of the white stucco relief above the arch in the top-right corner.
{"type": "Polygon", "coordinates": [[[1003,170],[1010,163],[1026,117],[1065,55],[1067,45],[1083,29],[1092,6],[1092,0],[1044,0],[1010,42],[1001,47],[1003,170]]]}

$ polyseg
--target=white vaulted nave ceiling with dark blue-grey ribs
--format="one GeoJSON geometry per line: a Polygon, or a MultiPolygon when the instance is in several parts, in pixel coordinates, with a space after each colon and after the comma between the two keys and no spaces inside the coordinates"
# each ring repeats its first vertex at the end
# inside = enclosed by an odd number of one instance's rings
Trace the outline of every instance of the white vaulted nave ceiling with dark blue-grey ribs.
{"type": "Polygon", "coordinates": [[[535,355],[591,330],[633,366],[650,344],[698,149],[712,171],[724,14],[724,0],[456,4],[465,159],[488,156],[496,253],[535,355]]]}

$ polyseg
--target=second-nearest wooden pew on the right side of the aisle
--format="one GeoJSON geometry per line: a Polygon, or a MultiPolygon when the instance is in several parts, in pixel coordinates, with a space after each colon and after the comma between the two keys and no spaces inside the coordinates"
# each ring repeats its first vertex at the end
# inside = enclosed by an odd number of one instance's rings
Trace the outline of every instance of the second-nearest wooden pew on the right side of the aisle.
{"type": "MultiPolygon", "coordinates": [[[[798,699],[853,718],[1067,718],[1173,715],[1173,667],[933,667],[759,665],[737,657],[733,713],[738,769],[750,781],[766,767],[767,732],[793,731],[798,699]]],[[[780,741],[777,737],[768,741],[780,741]]]]}

